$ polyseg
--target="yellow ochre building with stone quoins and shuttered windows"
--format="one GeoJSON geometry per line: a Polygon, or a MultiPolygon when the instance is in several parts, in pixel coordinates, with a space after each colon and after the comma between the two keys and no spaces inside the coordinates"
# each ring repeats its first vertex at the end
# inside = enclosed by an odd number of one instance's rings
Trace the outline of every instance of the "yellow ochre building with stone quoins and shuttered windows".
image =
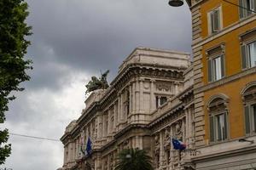
{"type": "Polygon", "coordinates": [[[256,1],[187,1],[192,14],[195,169],[256,167],[256,1]]]}

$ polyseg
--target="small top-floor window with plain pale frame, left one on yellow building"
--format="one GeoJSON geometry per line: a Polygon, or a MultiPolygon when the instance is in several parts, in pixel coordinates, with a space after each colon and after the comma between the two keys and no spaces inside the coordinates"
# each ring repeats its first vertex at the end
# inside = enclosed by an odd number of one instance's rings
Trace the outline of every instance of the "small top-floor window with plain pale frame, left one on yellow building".
{"type": "Polygon", "coordinates": [[[216,8],[208,13],[208,31],[209,34],[221,30],[221,8],[216,8]]]}

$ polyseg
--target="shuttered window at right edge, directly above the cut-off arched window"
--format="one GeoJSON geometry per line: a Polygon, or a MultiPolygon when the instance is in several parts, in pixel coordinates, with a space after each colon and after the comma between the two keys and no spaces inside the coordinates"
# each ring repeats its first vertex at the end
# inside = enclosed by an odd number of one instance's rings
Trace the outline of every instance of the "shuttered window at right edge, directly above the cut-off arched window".
{"type": "Polygon", "coordinates": [[[256,41],[241,46],[241,65],[242,69],[256,66],[256,41]]]}

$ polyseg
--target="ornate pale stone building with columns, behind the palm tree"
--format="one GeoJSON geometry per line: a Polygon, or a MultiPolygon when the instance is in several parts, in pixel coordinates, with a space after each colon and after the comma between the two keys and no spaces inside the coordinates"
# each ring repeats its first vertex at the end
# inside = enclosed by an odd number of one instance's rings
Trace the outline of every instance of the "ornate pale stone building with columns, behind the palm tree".
{"type": "Polygon", "coordinates": [[[189,54],[136,48],[119,66],[110,87],[96,90],[61,137],[62,169],[113,169],[119,150],[139,148],[155,169],[190,167],[195,150],[173,150],[176,137],[195,148],[193,69],[189,54]],[[92,156],[80,148],[90,137],[92,156]]]}

